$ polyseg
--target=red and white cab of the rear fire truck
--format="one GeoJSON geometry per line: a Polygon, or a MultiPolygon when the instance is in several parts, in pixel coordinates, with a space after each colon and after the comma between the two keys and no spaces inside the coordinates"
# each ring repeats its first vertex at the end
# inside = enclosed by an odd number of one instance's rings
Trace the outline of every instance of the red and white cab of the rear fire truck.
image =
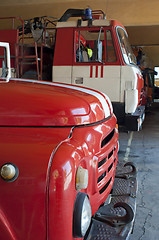
{"type": "Polygon", "coordinates": [[[91,19],[58,22],[56,28],[52,79],[61,82],[65,75],[69,84],[104,92],[118,123],[139,130],[144,120],[143,77],[122,24],[91,19]]]}

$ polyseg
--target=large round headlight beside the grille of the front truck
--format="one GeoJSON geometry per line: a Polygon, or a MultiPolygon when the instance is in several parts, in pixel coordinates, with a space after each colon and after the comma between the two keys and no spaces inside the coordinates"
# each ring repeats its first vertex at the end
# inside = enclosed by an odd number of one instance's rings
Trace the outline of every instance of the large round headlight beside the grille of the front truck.
{"type": "Polygon", "coordinates": [[[87,194],[79,192],[76,197],[73,212],[74,237],[84,237],[91,222],[91,205],[87,194]]]}

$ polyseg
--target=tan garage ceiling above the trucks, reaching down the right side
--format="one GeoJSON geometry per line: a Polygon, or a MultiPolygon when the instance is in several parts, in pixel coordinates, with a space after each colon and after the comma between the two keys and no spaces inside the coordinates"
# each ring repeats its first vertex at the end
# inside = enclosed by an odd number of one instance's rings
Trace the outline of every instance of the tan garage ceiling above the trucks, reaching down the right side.
{"type": "Polygon", "coordinates": [[[153,66],[159,66],[158,0],[0,0],[0,16],[60,17],[68,8],[102,9],[108,19],[117,19],[127,29],[130,43],[142,46],[153,66]]]}

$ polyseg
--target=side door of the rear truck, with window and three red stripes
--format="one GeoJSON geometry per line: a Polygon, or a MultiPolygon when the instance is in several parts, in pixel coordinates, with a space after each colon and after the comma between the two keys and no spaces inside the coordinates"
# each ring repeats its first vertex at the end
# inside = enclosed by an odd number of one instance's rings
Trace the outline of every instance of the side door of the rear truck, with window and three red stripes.
{"type": "Polygon", "coordinates": [[[120,63],[111,29],[75,29],[72,84],[97,89],[111,101],[120,101],[120,63]]]}

